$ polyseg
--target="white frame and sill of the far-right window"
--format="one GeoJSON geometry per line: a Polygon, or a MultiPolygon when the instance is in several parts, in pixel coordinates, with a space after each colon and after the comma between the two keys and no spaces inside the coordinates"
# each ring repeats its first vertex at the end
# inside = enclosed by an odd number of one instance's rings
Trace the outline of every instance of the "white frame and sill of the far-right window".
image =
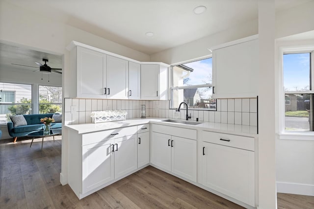
{"type": "Polygon", "coordinates": [[[307,46],[282,46],[278,50],[278,125],[277,125],[277,134],[279,139],[288,139],[288,140],[314,140],[314,131],[287,131],[285,130],[285,106],[286,104],[286,94],[314,94],[314,45],[307,46]],[[310,79],[312,90],[305,91],[285,91],[284,88],[284,54],[290,53],[311,53],[310,57],[310,79]]]}

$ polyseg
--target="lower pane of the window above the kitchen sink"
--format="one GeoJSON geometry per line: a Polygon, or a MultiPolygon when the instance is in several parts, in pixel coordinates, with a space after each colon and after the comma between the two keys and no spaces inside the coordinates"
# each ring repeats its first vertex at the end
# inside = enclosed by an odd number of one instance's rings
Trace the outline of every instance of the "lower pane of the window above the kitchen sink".
{"type": "MultiPolygon", "coordinates": [[[[212,88],[185,88],[172,90],[172,107],[179,108],[181,102],[186,102],[188,108],[204,108],[216,110],[216,100],[212,99],[212,88]]],[[[184,107],[185,108],[185,107],[184,107]]]]}

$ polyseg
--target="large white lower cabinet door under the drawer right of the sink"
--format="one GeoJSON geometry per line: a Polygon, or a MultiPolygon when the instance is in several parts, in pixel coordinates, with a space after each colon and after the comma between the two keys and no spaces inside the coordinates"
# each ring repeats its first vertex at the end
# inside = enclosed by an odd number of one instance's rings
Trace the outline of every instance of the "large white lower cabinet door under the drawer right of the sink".
{"type": "Polygon", "coordinates": [[[203,143],[202,183],[216,191],[255,206],[254,152],[203,143]]]}

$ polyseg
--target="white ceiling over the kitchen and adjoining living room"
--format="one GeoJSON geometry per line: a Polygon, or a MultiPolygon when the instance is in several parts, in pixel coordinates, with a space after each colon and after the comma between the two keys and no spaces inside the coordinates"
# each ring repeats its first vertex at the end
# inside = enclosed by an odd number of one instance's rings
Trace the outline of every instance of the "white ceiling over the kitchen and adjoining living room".
{"type": "MultiPolygon", "coordinates": [[[[153,54],[258,18],[258,0],[6,0],[104,37],[139,52],[153,54]],[[196,6],[206,6],[196,15],[196,6]],[[147,37],[146,32],[154,32],[147,37]]],[[[276,10],[311,0],[275,0],[276,10]]],[[[62,58],[16,46],[0,44],[0,64],[37,67],[48,58],[52,68],[62,68],[62,58]]],[[[19,66],[15,66],[19,67],[19,66]]],[[[20,67],[23,68],[23,67],[20,67]]],[[[36,70],[31,67],[23,69],[36,70]]]]}

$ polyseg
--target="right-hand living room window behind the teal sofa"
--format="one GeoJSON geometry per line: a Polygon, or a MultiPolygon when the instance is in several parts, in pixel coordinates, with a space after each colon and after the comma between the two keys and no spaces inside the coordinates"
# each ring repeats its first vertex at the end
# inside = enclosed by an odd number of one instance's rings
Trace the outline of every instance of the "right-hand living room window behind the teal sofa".
{"type": "Polygon", "coordinates": [[[62,87],[39,86],[39,113],[62,113],[62,87]]]}

